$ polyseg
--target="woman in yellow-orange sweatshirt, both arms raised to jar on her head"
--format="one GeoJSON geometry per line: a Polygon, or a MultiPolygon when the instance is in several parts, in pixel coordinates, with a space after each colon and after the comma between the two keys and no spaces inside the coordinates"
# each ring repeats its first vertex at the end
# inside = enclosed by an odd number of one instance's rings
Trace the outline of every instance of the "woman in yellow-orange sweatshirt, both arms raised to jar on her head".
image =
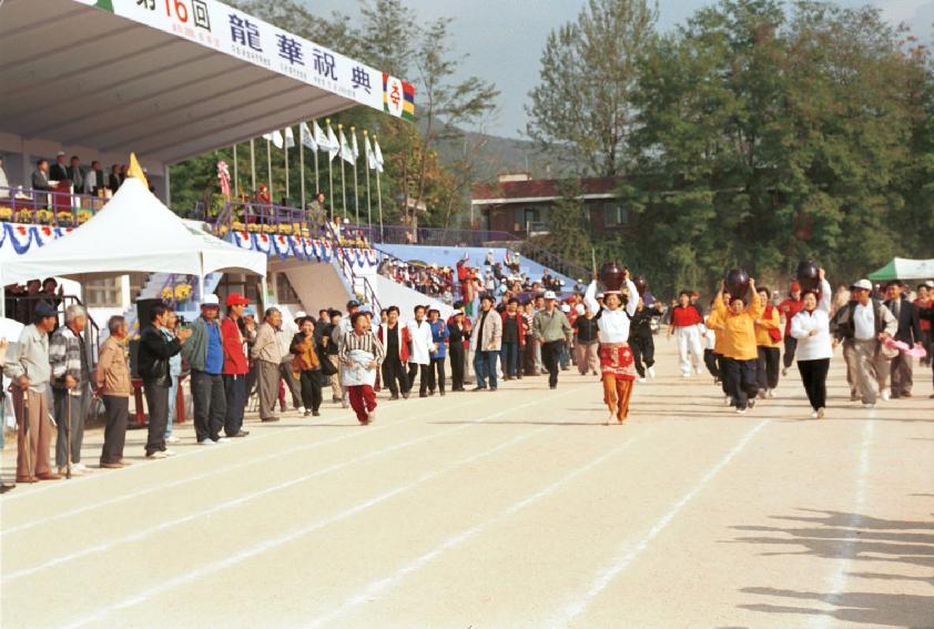
{"type": "Polygon", "coordinates": [[[762,317],[764,307],[755,281],[750,277],[749,290],[752,297],[749,307],[742,297],[732,296],[729,307],[723,303],[725,282],[713,301],[713,310],[722,322],[718,329],[718,338],[723,338],[723,356],[725,367],[727,389],[730,392],[732,405],[742,415],[748,407],[755,405],[755,394],[759,393],[757,363],[759,348],[755,344],[755,319],[762,317]]]}

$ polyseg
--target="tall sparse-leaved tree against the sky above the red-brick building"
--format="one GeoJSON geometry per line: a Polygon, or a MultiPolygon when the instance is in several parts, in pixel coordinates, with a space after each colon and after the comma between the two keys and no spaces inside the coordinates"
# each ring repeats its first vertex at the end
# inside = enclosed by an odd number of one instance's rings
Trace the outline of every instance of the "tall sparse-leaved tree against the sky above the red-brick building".
{"type": "Polygon", "coordinates": [[[576,21],[551,31],[526,108],[528,135],[544,146],[566,144],[571,161],[595,175],[620,172],[638,59],[656,37],[657,17],[647,0],[588,0],[576,21]]]}

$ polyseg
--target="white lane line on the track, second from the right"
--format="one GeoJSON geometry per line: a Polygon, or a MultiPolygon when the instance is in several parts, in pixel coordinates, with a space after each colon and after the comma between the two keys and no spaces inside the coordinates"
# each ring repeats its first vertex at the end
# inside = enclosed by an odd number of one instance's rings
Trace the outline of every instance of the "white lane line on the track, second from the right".
{"type": "Polygon", "coordinates": [[[740,440],[730,448],[730,452],[721,458],[717,465],[711,467],[707,474],[698,481],[694,487],[684,494],[680,500],[678,500],[671,509],[667,514],[664,514],[661,519],[659,519],[654,526],[634,545],[626,545],[623,546],[619,558],[613,561],[613,564],[605,570],[596,581],[590,586],[590,589],[587,590],[583,595],[576,597],[571,603],[569,603],[564,610],[557,613],[557,618],[550,621],[550,626],[552,627],[567,627],[570,622],[580,616],[585,609],[587,609],[590,603],[593,601],[597,596],[600,595],[611,582],[616,579],[623,570],[626,570],[629,565],[632,562],[636,557],[639,556],[642,550],[644,550],[651,541],[658,537],[658,535],[663,531],[671,520],[684,508],[684,506],[690,503],[694,496],[697,496],[707,485],[713,479],[717,474],[727,467],[733,458],[742,452],[742,449],[749,444],[750,440],[761,430],[767,424],[769,424],[769,419],[763,419],[755,426],[753,426],[750,430],[745,433],[745,435],[740,438],[740,440]]]}

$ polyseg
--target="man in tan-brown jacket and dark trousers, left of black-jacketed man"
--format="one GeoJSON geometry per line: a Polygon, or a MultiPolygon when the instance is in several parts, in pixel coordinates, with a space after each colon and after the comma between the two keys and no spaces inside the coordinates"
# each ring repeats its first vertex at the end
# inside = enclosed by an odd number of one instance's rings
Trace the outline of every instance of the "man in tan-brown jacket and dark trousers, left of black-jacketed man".
{"type": "Polygon", "coordinates": [[[130,465],[123,461],[126,422],[130,417],[130,368],[123,344],[126,338],[126,319],[112,316],[108,321],[110,336],[101,347],[98,371],[94,374],[94,393],[104,400],[106,427],[101,450],[101,467],[120,469],[130,465]]]}

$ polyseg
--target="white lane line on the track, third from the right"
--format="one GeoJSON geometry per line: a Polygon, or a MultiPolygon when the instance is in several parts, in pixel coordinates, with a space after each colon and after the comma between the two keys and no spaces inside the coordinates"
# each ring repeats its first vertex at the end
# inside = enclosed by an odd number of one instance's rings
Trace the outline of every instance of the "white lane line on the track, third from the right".
{"type": "MultiPolygon", "coordinates": [[[[653,427],[649,427],[648,432],[650,432],[652,429],[653,429],[653,427]]],[[[639,433],[640,437],[643,437],[644,435],[646,435],[646,432],[639,433]]],[[[333,622],[338,621],[342,617],[346,616],[354,608],[356,608],[356,607],[358,607],[363,603],[366,603],[366,602],[373,602],[374,598],[383,596],[386,592],[386,590],[395,587],[405,577],[415,572],[416,570],[422,569],[425,565],[427,565],[428,562],[436,559],[443,552],[445,552],[447,550],[450,550],[451,548],[464,544],[465,541],[480,535],[481,532],[484,532],[488,528],[499,524],[500,521],[515,516],[516,514],[518,514],[519,511],[521,511],[526,507],[532,505],[534,503],[550,496],[551,494],[554,494],[558,489],[561,489],[562,487],[567,486],[569,483],[571,483],[572,480],[575,480],[579,476],[582,476],[583,474],[587,474],[588,471],[590,471],[591,469],[593,469],[598,465],[602,464],[605,460],[620,454],[623,450],[629,449],[629,447],[632,446],[632,444],[636,443],[636,442],[637,442],[637,438],[634,438],[634,437],[629,439],[628,442],[623,442],[622,444],[612,448],[611,450],[609,450],[609,452],[600,455],[599,457],[590,460],[589,463],[578,467],[577,469],[575,469],[570,474],[567,474],[567,475],[562,476],[561,478],[551,483],[547,487],[545,487],[542,489],[539,489],[535,494],[531,494],[530,496],[527,496],[527,497],[522,498],[518,503],[512,504],[511,506],[509,506],[508,508],[498,513],[497,515],[493,516],[491,518],[488,518],[488,519],[481,521],[480,524],[474,526],[473,528],[468,528],[466,530],[463,530],[463,531],[458,532],[457,535],[448,537],[440,545],[436,546],[435,548],[433,548],[428,552],[425,552],[424,555],[417,557],[413,561],[406,564],[405,566],[403,566],[402,568],[399,568],[398,570],[396,570],[395,572],[393,572],[388,577],[376,580],[376,581],[372,581],[369,585],[365,586],[362,590],[359,590],[358,594],[354,595],[353,597],[351,597],[349,599],[344,601],[344,603],[342,603],[341,607],[338,607],[337,609],[335,609],[335,610],[333,610],[328,613],[325,613],[324,616],[321,616],[321,617],[316,618],[307,627],[313,628],[313,627],[322,627],[324,625],[331,625],[333,622]]]]}

